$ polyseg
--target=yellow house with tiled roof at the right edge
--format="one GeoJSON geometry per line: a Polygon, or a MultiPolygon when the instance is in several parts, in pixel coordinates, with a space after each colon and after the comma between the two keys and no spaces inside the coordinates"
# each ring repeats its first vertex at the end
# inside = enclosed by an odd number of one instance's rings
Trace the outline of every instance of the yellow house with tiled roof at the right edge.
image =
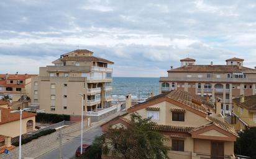
{"type": "Polygon", "coordinates": [[[256,127],[256,95],[233,99],[232,124],[236,131],[256,127]]]}

